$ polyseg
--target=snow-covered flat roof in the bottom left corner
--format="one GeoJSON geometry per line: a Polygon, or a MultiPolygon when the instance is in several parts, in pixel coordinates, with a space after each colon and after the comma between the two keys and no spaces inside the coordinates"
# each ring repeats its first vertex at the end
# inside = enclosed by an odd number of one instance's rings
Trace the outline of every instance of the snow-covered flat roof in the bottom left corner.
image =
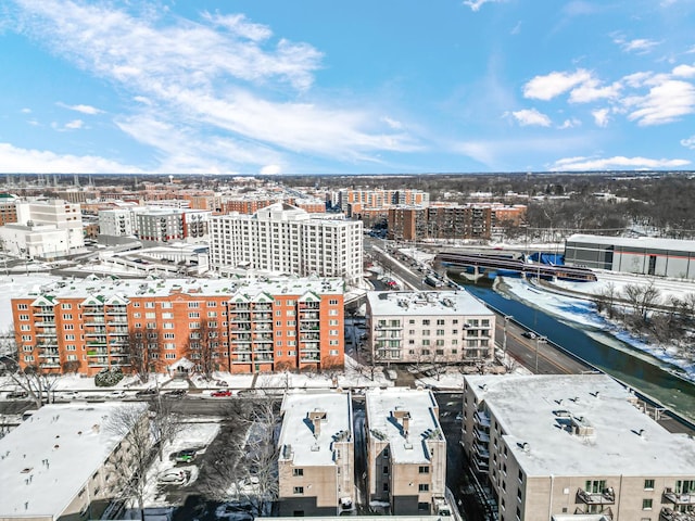
{"type": "Polygon", "coordinates": [[[123,440],[105,428],[123,406],[47,405],[1,439],[0,518],[58,518],[123,440]]]}

